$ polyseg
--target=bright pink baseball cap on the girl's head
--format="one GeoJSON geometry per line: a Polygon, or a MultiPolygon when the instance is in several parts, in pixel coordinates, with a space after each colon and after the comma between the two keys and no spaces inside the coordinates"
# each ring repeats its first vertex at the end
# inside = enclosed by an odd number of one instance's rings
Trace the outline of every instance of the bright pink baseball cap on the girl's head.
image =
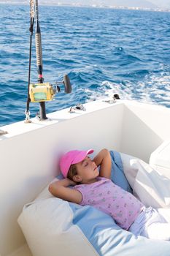
{"type": "Polygon", "coordinates": [[[63,155],[60,159],[60,167],[61,173],[66,178],[67,173],[69,171],[69,167],[73,164],[77,164],[78,162],[82,162],[83,159],[87,156],[87,154],[92,154],[93,149],[89,149],[88,151],[79,151],[72,150],[63,155]]]}

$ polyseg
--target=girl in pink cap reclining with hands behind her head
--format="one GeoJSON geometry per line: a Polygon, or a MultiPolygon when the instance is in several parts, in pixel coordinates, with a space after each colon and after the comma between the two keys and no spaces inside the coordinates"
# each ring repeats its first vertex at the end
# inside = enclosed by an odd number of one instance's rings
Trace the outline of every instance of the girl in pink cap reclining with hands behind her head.
{"type": "Polygon", "coordinates": [[[81,206],[96,207],[136,236],[170,241],[170,224],[163,216],[152,207],[144,207],[134,195],[110,180],[112,159],[109,151],[104,148],[91,160],[88,154],[92,153],[93,149],[64,154],[60,160],[64,179],[50,184],[51,194],[81,206]]]}

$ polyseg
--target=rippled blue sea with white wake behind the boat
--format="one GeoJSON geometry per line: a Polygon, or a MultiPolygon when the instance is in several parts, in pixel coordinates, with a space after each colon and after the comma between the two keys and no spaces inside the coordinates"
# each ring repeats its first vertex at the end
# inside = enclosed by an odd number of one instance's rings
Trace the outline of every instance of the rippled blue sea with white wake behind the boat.
{"type": "MultiPolygon", "coordinates": [[[[0,4],[0,126],[25,118],[29,6],[0,4]]],[[[39,6],[43,75],[55,84],[68,74],[46,112],[115,93],[170,107],[170,12],[39,6]]],[[[37,82],[35,41],[31,82],[37,82]]],[[[39,111],[30,105],[31,117],[39,111]]]]}

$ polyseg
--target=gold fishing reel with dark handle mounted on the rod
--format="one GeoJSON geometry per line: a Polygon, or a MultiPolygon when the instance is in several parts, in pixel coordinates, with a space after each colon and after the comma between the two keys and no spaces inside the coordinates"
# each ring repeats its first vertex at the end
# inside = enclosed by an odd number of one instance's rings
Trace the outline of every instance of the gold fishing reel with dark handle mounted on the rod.
{"type": "Polygon", "coordinates": [[[29,97],[31,102],[47,102],[53,100],[55,94],[61,91],[58,84],[64,85],[66,94],[72,92],[69,76],[63,75],[63,80],[61,82],[56,82],[54,86],[50,83],[31,83],[29,86],[29,97]]]}

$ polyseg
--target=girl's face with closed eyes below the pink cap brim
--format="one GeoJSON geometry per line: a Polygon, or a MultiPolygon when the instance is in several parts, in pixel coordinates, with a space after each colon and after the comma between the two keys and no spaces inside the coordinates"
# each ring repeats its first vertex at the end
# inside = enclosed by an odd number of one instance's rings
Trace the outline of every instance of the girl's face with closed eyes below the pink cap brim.
{"type": "MultiPolygon", "coordinates": [[[[98,176],[98,167],[90,157],[85,157],[82,162],[76,164],[77,166],[77,178],[80,178],[78,182],[82,184],[89,184],[96,181],[98,176]]],[[[74,176],[75,177],[75,176],[74,176]]]]}

